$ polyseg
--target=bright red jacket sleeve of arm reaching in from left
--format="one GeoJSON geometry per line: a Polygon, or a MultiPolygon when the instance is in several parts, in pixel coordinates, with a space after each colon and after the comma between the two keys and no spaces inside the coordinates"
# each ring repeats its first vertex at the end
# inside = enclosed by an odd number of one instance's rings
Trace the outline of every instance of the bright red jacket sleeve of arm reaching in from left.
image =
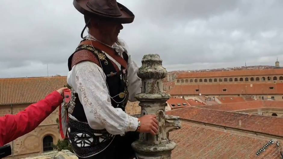
{"type": "Polygon", "coordinates": [[[45,99],[29,105],[17,115],[0,117],[0,146],[34,130],[63,102],[63,97],[54,91],[45,99]]]}

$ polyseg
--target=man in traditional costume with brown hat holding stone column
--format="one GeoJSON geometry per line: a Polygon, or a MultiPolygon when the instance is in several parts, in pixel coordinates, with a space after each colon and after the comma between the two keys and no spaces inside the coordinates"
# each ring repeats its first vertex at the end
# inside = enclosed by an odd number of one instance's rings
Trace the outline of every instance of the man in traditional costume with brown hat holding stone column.
{"type": "Polygon", "coordinates": [[[79,158],[135,157],[131,143],[138,132],[156,134],[157,117],[135,118],[125,106],[141,92],[137,65],[118,39],[134,14],[116,0],[74,0],[84,15],[88,36],[69,57],[67,83],[72,87],[67,135],[79,158]]]}

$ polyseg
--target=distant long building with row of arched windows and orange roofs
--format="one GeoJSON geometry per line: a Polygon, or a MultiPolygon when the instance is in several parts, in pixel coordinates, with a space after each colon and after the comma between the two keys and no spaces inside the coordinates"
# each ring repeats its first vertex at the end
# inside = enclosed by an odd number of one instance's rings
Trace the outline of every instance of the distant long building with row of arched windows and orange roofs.
{"type": "Polygon", "coordinates": [[[217,96],[249,96],[283,100],[283,69],[181,73],[168,93],[173,98],[206,96],[210,100],[217,96]]]}

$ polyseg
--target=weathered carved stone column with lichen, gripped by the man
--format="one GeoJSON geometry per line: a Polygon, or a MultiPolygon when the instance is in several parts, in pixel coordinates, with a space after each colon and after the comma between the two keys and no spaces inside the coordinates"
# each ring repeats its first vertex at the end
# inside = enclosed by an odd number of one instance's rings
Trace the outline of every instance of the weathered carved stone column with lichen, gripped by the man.
{"type": "Polygon", "coordinates": [[[158,117],[159,133],[140,133],[139,140],[132,144],[139,159],[170,159],[176,144],[169,140],[169,132],[179,129],[179,117],[165,114],[166,101],[170,95],[163,92],[162,79],[167,71],[157,54],[145,55],[138,77],[142,79],[142,93],[136,95],[142,107],[141,115],[155,114],[158,117]]]}

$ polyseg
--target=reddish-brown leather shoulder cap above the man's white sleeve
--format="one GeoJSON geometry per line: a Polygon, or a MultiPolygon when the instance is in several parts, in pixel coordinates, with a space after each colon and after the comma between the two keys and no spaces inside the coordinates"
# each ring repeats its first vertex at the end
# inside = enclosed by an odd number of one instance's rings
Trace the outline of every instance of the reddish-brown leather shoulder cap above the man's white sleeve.
{"type": "Polygon", "coordinates": [[[97,57],[95,57],[94,54],[92,54],[88,50],[79,50],[78,52],[76,52],[73,55],[71,68],[74,65],[76,65],[78,63],[81,63],[83,61],[90,61],[90,62],[93,62],[93,63],[97,64],[99,67],[101,67],[97,57]]]}

